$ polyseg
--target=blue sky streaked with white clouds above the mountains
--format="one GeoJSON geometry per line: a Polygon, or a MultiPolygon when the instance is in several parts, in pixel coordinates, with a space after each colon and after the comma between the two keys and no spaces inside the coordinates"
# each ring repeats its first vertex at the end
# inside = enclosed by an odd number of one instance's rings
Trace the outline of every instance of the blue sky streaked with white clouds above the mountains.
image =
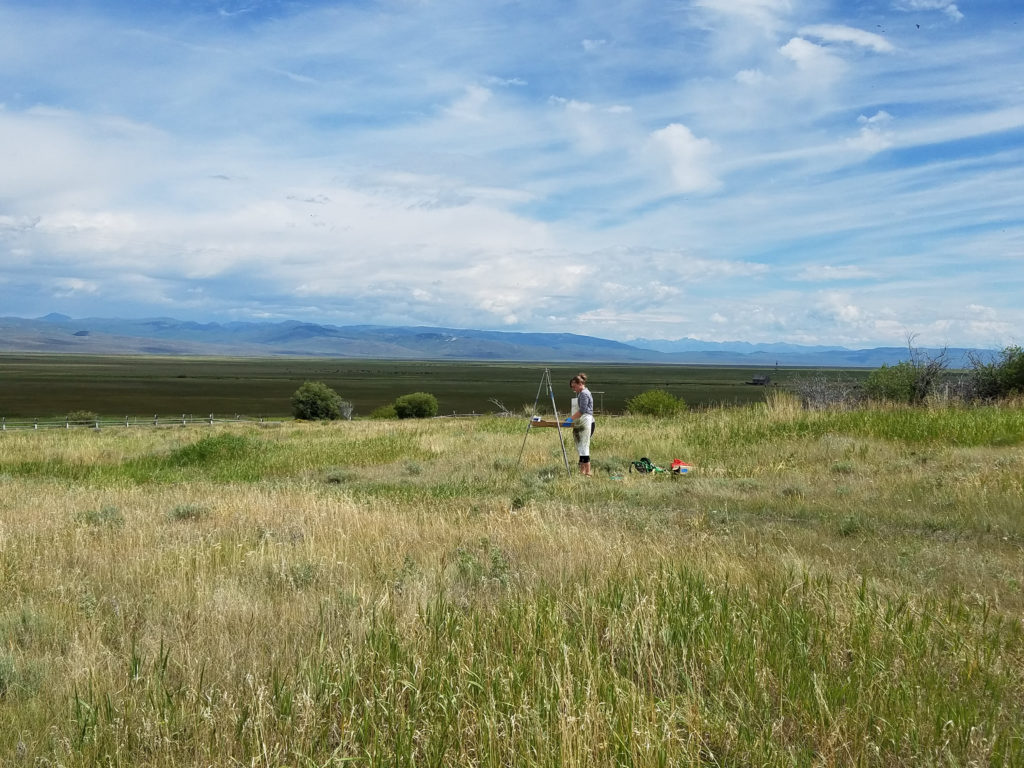
{"type": "Polygon", "coordinates": [[[1019,0],[0,0],[0,316],[1024,343],[1019,0]]]}

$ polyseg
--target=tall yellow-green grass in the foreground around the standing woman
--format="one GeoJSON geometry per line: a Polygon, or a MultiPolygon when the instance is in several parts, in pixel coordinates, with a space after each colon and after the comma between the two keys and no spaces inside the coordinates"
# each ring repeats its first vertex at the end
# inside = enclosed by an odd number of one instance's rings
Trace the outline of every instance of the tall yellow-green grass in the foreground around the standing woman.
{"type": "Polygon", "coordinates": [[[1024,410],[525,436],[0,435],[0,765],[1024,764],[1024,410]]]}

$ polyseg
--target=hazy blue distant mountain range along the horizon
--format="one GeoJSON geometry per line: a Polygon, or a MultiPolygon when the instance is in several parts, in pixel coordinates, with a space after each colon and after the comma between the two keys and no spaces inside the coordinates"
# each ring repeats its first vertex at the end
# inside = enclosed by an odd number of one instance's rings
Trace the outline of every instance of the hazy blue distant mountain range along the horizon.
{"type": "MultiPolygon", "coordinates": [[[[923,350],[937,353],[938,350],[923,350]]],[[[625,344],[594,336],[473,331],[451,328],[329,326],[282,323],[193,323],[170,317],[121,319],[0,317],[0,352],[224,355],[240,357],[328,356],[385,359],[463,359],[807,366],[878,368],[907,358],[906,347],[848,349],[839,346],[637,339],[625,344]]],[[[989,350],[947,349],[951,368],[989,350]]]]}

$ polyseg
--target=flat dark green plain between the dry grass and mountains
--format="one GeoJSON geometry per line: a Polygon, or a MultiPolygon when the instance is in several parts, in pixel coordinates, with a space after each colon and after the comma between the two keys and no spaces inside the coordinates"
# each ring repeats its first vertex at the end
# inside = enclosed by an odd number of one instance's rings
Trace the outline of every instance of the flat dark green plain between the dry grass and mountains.
{"type": "MultiPolygon", "coordinates": [[[[645,389],[664,388],[694,407],[764,399],[755,374],[785,384],[811,372],[799,369],[698,366],[558,365],[551,368],[559,408],[568,380],[590,376],[597,404],[617,413],[645,389]]],[[[537,397],[543,366],[512,362],[422,362],[313,358],[182,358],[76,355],[0,355],[0,416],[47,418],[72,411],[104,416],[186,414],[290,415],[289,399],[306,380],[324,381],[367,415],[410,392],[434,394],[441,413],[492,413],[490,398],[518,411],[537,397]]],[[[836,372],[831,372],[834,375],[836,372]]],[[[866,372],[845,372],[862,377],[866,372]]],[[[547,392],[543,393],[547,397],[547,392]]],[[[550,398],[548,398],[550,399],[550,398]]]]}

